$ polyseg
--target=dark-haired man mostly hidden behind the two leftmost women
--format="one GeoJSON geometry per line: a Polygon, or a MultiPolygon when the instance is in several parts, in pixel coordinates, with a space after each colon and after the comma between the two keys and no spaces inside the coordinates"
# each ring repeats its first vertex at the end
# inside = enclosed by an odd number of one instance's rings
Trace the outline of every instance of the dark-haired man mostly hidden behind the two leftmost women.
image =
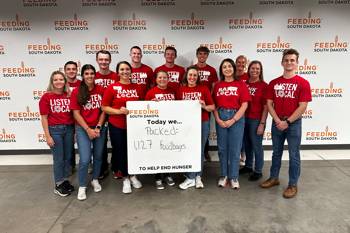
{"type": "MultiPolygon", "coordinates": [[[[64,73],[67,77],[67,81],[69,84],[70,90],[73,90],[74,88],[79,87],[81,80],[77,79],[77,74],[78,74],[78,65],[74,61],[68,61],[64,65],[64,73]]],[[[75,135],[76,137],[76,135],[75,135]]],[[[74,138],[75,139],[75,138],[74,138]]],[[[70,159],[70,168],[69,168],[69,175],[71,175],[75,171],[75,149],[73,148],[73,156],[70,159]]],[[[92,172],[92,171],[91,171],[92,172]]]]}

